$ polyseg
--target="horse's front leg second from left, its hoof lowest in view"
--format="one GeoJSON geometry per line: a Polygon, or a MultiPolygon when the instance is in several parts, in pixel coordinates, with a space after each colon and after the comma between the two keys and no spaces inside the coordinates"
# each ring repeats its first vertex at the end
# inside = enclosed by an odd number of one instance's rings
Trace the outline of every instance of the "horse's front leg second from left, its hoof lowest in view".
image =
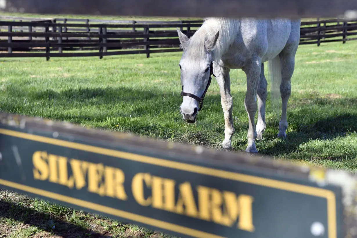
{"type": "Polygon", "coordinates": [[[246,152],[257,153],[257,148],[255,146],[255,140],[257,138],[257,131],[255,128],[255,113],[257,112],[257,87],[260,79],[261,72],[261,59],[253,58],[251,62],[243,69],[247,75],[247,92],[244,99],[244,107],[248,113],[248,146],[246,152]]]}

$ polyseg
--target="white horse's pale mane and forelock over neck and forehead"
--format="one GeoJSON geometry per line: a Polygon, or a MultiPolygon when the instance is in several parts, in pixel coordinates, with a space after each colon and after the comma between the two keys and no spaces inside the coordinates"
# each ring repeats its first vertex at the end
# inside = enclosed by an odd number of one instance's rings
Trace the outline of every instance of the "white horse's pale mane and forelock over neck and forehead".
{"type": "Polygon", "coordinates": [[[190,37],[187,46],[189,57],[200,60],[205,57],[205,41],[211,39],[219,31],[217,43],[212,50],[213,61],[219,61],[232,44],[240,30],[239,19],[209,17],[204,19],[202,26],[190,37]]]}

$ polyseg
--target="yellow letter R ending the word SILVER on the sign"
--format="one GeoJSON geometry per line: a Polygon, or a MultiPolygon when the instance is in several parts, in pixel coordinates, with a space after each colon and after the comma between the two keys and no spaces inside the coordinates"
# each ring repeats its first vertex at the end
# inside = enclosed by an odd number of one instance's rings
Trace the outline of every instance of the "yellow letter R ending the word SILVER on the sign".
{"type": "Polygon", "coordinates": [[[121,169],[106,166],[105,173],[105,193],[109,197],[116,197],[126,200],[124,189],[125,174],[121,169]]]}

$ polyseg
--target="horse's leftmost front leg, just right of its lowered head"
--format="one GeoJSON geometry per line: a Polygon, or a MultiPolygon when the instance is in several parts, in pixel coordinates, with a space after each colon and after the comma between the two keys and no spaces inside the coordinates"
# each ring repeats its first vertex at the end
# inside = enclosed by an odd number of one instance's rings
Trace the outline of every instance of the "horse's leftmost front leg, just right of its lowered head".
{"type": "Polygon", "coordinates": [[[218,66],[216,69],[217,68],[220,68],[218,69],[219,71],[217,72],[216,79],[220,87],[221,104],[225,122],[225,136],[222,146],[224,149],[230,150],[232,148],[232,136],[235,131],[232,117],[233,100],[231,96],[231,79],[229,76],[230,69],[224,66],[218,66]]]}

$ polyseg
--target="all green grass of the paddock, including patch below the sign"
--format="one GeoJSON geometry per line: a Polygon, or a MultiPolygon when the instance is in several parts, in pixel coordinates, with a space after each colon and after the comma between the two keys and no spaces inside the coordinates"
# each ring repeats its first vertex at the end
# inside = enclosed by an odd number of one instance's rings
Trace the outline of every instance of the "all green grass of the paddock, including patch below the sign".
{"type": "MultiPolygon", "coordinates": [[[[288,105],[287,140],[267,101],[263,155],[357,171],[357,41],[300,46],[288,105]]],[[[0,110],[102,130],[220,149],[223,112],[213,79],[197,123],[182,121],[181,53],[88,58],[0,59],[0,110]]],[[[265,67],[267,69],[267,67],[265,67]]],[[[246,77],[231,71],[234,151],[245,150],[246,77]]],[[[268,90],[270,87],[268,86],[268,90]]],[[[0,237],[164,237],[8,191],[0,192],[0,237]]]]}

